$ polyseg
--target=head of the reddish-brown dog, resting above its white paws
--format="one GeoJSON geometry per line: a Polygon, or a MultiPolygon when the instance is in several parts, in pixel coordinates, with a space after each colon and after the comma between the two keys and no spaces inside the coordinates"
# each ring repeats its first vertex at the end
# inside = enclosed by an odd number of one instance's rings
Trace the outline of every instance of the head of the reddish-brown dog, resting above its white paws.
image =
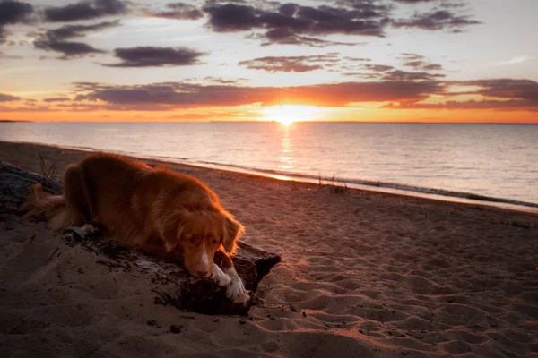
{"type": "Polygon", "coordinates": [[[211,277],[215,252],[221,247],[235,252],[244,231],[245,227],[224,210],[194,210],[182,213],[176,234],[169,236],[166,246],[168,251],[182,251],[191,275],[211,277]]]}

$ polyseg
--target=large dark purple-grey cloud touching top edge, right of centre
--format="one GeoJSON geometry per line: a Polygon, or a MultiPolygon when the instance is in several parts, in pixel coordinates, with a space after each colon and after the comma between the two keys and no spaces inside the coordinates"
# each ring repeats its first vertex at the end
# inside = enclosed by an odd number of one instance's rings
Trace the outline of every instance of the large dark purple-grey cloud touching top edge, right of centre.
{"type": "Polygon", "coordinates": [[[215,32],[254,31],[248,38],[262,39],[262,45],[353,45],[327,41],[329,35],[384,37],[386,28],[414,28],[422,30],[450,29],[459,32],[465,26],[481,23],[461,13],[463,3],[443,0],[395,0],[400,4],[438,4],[429,13],[417,13],[410,19],[392,18],[395,5],[388,0],[339,0],[332,5],[304,6],[294,3],[280,4],[221,4],[209,1],[204,6],[208,14],[207,27],[215,32]],[[454,13],[458,11],[458,13],[454,13]]]}

